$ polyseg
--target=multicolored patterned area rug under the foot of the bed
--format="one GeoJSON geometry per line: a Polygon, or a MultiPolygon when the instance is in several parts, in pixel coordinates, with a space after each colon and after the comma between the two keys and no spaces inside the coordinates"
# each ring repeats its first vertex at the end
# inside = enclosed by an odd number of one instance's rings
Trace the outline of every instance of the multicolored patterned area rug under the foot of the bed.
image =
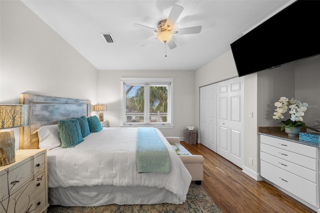
{"type": "Polygon", "coordinates": [[[106,212],[222,212],[201,185],[191,182],[186,201],[182,204],[153,204],[153,205],[103,205],[94,207],[65,207],[61,205],[50,205],[48,213],[106,213],[106,212]]]}

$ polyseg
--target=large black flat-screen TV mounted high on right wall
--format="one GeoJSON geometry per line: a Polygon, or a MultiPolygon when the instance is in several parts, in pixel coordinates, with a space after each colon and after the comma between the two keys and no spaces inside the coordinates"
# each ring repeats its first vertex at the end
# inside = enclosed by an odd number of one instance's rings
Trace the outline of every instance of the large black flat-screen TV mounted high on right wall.
{"type": "Polygon", "coordinates": [[[230,44],[239,76],[320,54],[320,0],[297,0],[230,44]]]}

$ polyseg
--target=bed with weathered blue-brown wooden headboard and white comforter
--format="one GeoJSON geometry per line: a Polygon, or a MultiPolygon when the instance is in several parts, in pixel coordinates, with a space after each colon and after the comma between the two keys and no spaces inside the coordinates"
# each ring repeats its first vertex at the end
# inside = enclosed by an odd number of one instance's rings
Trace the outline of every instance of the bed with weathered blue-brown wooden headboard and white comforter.
{"type": "MultiPolygon", "coordinates": [[[[20,148],[39,147],[40,127],[91,115],[89,100],[21,94],[20,102],[30,105],[29,125],[20,128],[20,148]]],[[[64,206],[183,203],[191,175],[159,129],[147,130],[154,131],[165,146],[169,171],[138,172],[136,146],[145,134],[141,129],[102,128],[90,132],[74,147],[48,148],[49,203],[64,206]]]]}

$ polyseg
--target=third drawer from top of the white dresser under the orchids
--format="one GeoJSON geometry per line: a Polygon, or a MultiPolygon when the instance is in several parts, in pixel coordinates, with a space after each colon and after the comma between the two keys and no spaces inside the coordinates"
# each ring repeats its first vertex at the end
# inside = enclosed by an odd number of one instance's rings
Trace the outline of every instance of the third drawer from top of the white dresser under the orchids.
{"type": "Polygon", "coordinates": [[[275,165],[279,168],[282,168],[286,171],[289,171],[293,174],[296,174],[300,177],[303,177],[307,180],[310,180],[314,183],[318,183],[318,172],[302,167],[300,165],[297,165],[295,163],[283,160],[281,158],[275,157],[273,155],[267,154],[265,152],[260,152],[260,159],[264,160],[265,162],[268,162],[272,165],[275,165]]]}

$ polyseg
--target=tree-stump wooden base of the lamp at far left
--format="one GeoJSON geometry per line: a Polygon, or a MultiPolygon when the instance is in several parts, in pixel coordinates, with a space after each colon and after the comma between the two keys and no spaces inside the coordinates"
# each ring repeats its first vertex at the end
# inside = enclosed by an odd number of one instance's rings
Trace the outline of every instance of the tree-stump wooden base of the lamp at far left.
{"type": "Polygon", "coordinates": [[[0,166],[15,161],[14,143],[13,130],[0,131],[0,166]]]}

